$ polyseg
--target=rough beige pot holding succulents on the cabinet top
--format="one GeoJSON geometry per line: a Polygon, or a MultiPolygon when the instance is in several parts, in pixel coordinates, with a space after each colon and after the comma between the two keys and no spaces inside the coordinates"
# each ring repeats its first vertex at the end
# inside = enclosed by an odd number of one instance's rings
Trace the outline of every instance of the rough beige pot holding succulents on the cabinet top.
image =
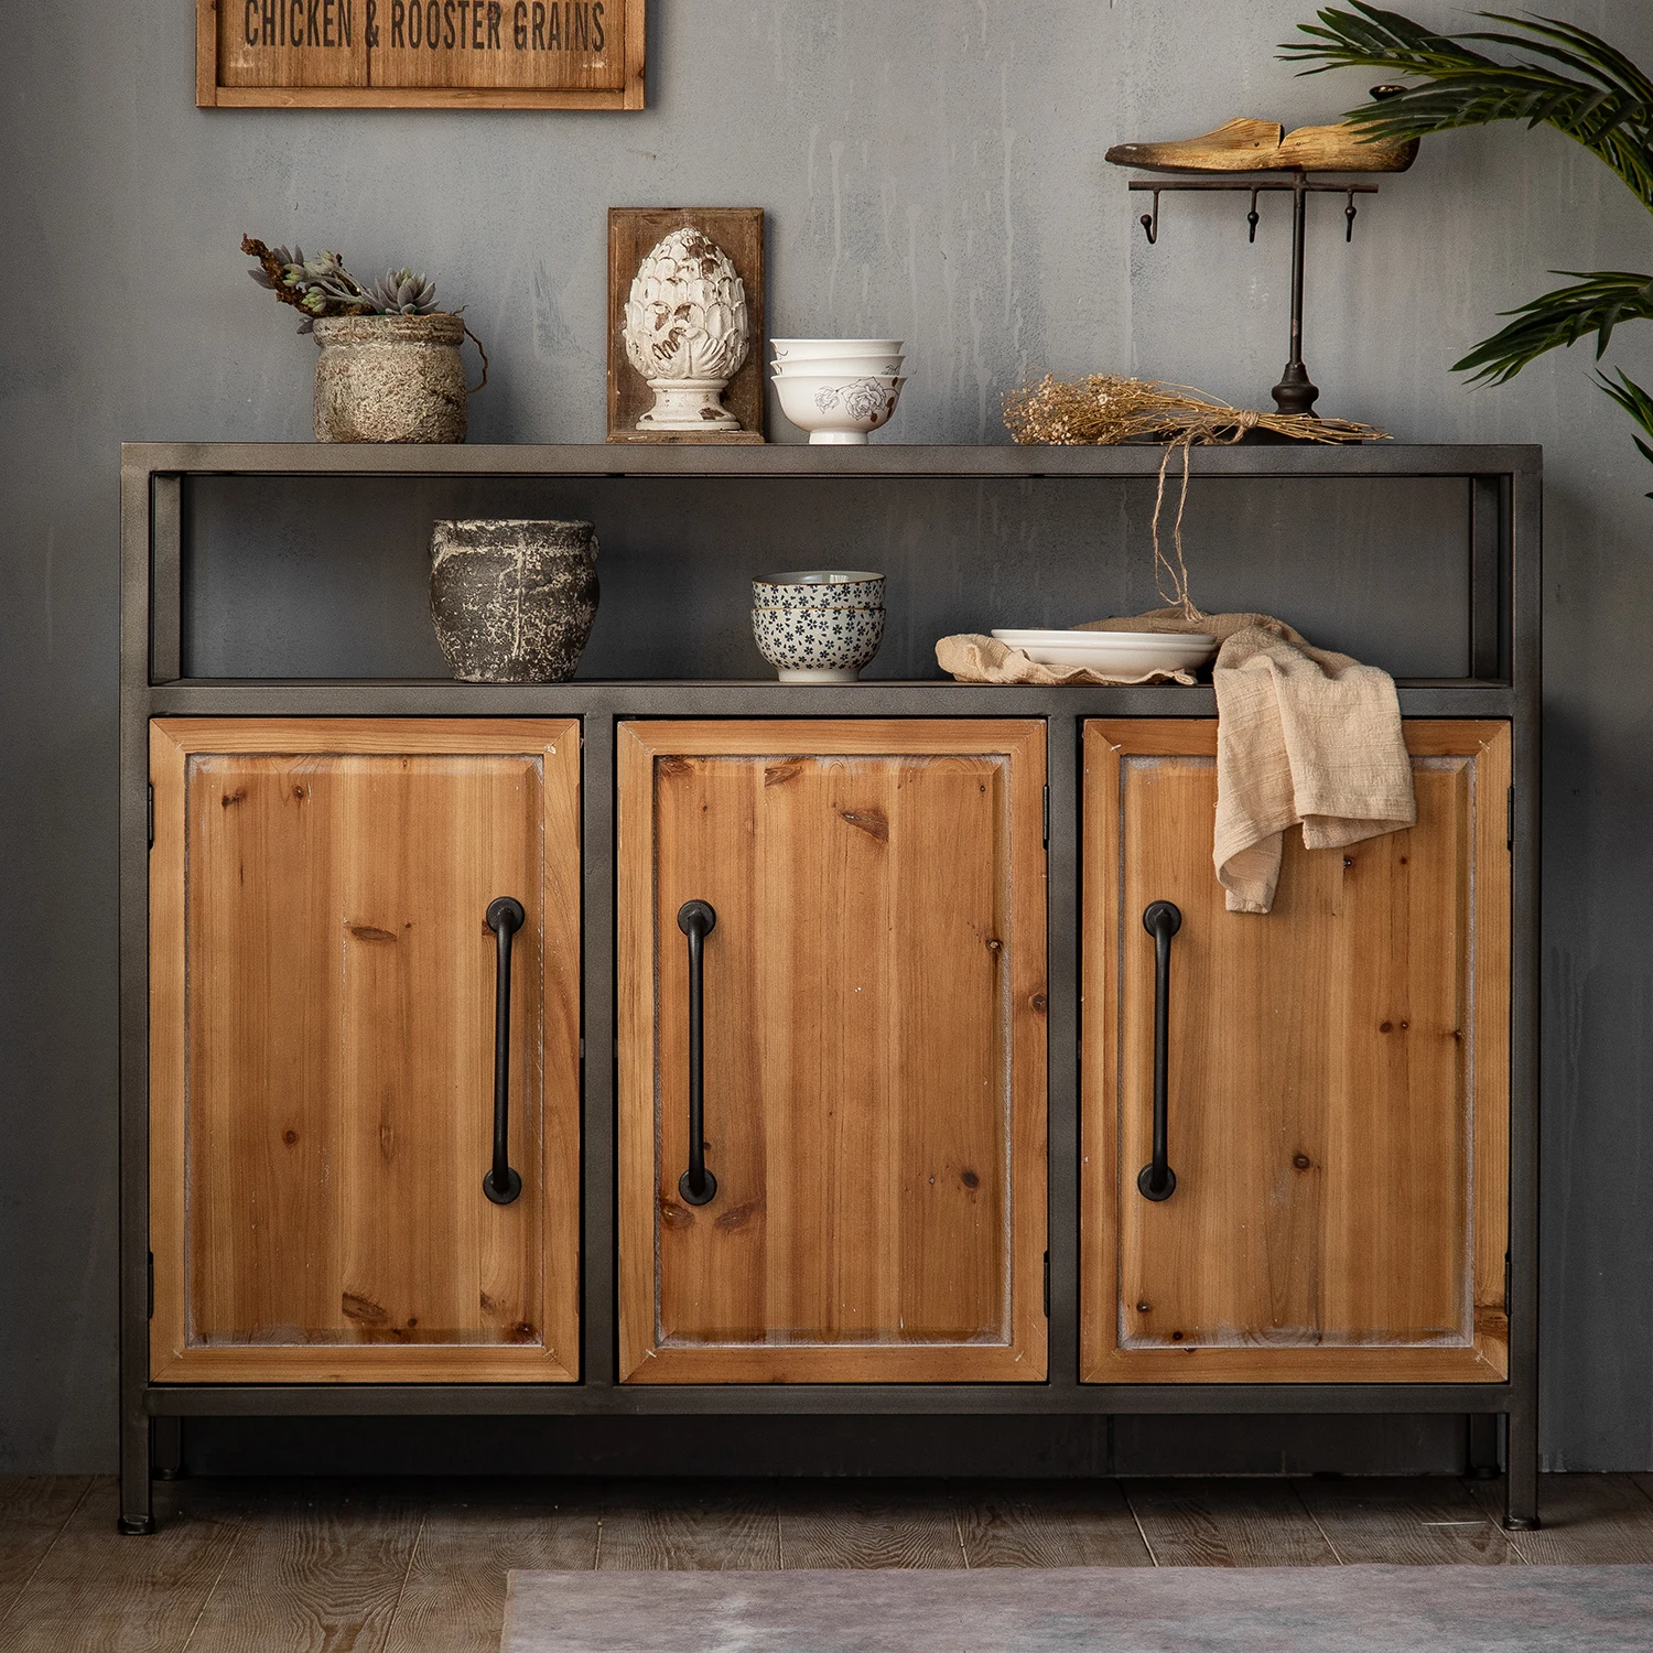
{"type": "Polygon", "coordinates": [[[316,321],[317,441],[464,441],[458,316],[316,321]]]}

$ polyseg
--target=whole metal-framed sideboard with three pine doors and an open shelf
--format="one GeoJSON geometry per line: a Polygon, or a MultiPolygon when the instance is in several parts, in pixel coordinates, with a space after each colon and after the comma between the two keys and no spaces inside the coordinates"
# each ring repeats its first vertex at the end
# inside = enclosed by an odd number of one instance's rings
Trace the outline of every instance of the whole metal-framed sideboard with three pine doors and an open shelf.
{"type": "Polygon", "coordinates": [[[1537,1521],[1537,450],[1195,453],[1412,754],[1266,917],[1208,684],[926,665],[1149,607],[1155,463],[124,450],[126,1531],[182,1418],[405,1412],[1446,1413],[1537,1521]],[[597,524],[590,678],[441,676],[483,514],[597,524]],[[826,564],[894,676],[752,681],[826,564]]]}

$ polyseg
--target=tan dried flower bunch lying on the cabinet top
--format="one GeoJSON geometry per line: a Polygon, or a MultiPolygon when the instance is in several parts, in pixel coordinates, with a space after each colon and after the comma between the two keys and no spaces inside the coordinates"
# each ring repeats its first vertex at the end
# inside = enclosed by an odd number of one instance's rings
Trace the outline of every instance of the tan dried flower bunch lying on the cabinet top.
{"type": "Polygon", "coordinates": [[[1258,413],[1189,385],[1091,374],[1065,380],[1046,374],[1005,397],[1005,425],[1023,445],[1111,446],[1119,441],[1238,441],[1248,430],[1271,430],[1301,441],[1374,441],[1387,438],[1374,425],[1309,413],[1258,413]]]}

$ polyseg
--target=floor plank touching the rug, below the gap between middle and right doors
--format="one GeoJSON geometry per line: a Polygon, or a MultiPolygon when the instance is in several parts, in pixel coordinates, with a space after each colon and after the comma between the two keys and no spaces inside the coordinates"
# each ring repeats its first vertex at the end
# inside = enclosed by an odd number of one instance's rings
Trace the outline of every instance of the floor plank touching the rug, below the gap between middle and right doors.
{"type": "Polygon", "coordinates": [[[970,1567],[1152,1567],[1117,1481],[957,1481],[970,1567]]]}

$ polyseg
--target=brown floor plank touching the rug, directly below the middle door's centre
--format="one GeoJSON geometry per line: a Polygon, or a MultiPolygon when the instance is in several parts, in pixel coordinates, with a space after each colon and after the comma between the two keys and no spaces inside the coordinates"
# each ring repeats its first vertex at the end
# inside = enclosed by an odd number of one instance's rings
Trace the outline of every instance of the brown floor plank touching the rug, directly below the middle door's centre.
{"type": "Polygon", "coordinates": [[[780,1565],[964,1567],[944,1481],[805,1481],[780,1493],[780,1565]]]}

